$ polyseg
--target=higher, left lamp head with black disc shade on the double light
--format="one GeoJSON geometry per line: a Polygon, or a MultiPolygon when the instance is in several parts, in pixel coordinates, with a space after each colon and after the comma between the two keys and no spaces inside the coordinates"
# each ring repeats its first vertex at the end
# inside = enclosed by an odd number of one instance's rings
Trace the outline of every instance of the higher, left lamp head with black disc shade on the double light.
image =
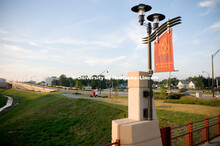
{"type": "Polygon", "coordinates": [[[145,4],[139,4],[137,6],[132,7],[131,10],[135,13],[139,13],[138,22],[140,23],[140,25],[143,25],[145,12],[150,11],[151,6],[145,4]]]}

